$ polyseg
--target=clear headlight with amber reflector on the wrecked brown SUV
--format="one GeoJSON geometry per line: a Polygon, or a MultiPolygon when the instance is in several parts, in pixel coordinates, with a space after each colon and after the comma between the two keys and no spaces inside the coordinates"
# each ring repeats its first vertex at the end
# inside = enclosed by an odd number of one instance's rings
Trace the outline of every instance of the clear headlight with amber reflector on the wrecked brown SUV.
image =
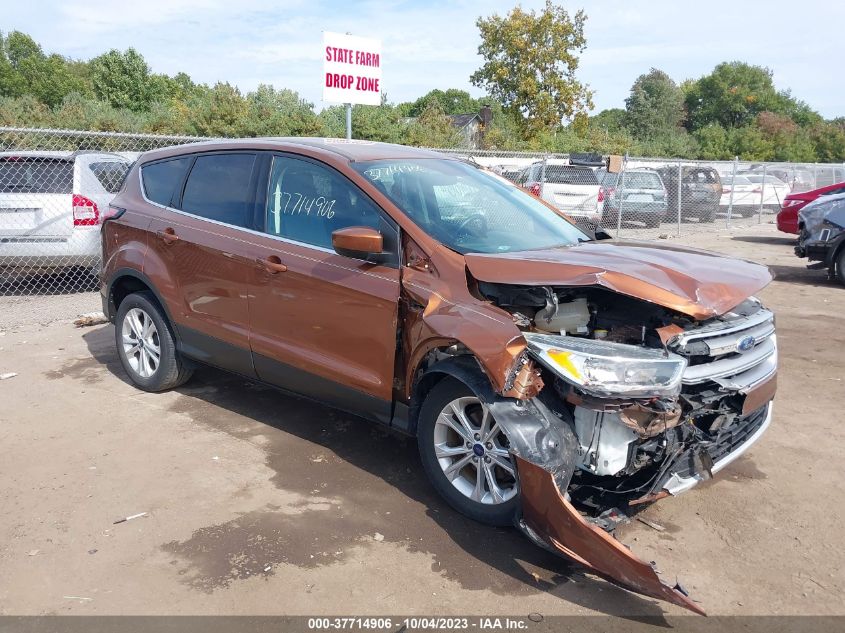
{"type": "Polygon", "coordinates": [[[677,354],[572,336],[524,336],[541,363],[587,393],[649,398],[680,392],[687,361],[677,354]]]}

